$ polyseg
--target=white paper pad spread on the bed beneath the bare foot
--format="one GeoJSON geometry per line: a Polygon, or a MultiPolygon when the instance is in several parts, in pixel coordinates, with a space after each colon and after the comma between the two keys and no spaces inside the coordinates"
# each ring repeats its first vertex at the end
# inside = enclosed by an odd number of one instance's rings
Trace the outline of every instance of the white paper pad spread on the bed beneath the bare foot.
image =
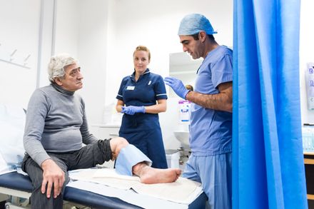
{"type": "MultiPolygon", "coordinates": [[[[101,169],[81,169],[81,170],[73,170],[69,172],[70,178],[74,180],[78,180],[78,182],[90,182],[90,183],[98,183],[105,186],[106,188],[114,188],[118,189],[120,192],[131,192],[135,195],[136,201],[132,204],[138,205],[138,201],[140,199],[150,198],[148,201],[149,208],[154,204],[153,200],[164,201],[167,204],[173,202],[174,204],[182,207],[185,205],[186,207],[195,200],[198,195],[200,195],[203,190],[201,188],[201,184],[197,183],[193,180],[188,180],[186,178],[178,178],[174,183],[156,183],[156,184],[144,184],[141,183],[137,176],[126,176],[126,175],[118,175],[113,168],[101,168],[101,169]],[[131,188],[133,190],[131,190],[131,188]],[[138,200],[137,200],[138,199],[138,200]]],[[[79,185],[80,183],[78,183],[79,185]]],[[[76,183],[77,185],[77,183],[76,183]]],[[[71,186],[71,184],[69,184],[71,186]]],[[[95,185],[93,185],[93,188],[95,185]]],[[[83,190],[89,190],[91,188],[81,188],[83,190]]],[[[98,193],[94,190],[91,190],[93,193],[98,193]]],[[[112,196],[112,195],[109,195],[112,196]]],[[[121,198],[121,200],[125,200],[128,203],[131,203],[128,194],[116,196],[117,198],[121,198]],[[127,200],[126,200],[127,199],[127,200]]],[[[132,198],[131,198],[132,199],[132,198]]],[[[143,200],[146,202],[146,200],[143,200]]],[[[142,202],[142,201],[139,201],[142,202]]],[[[138,205],[141,206],[142,205],[138,205]]],[[[144,207],[147,208],[147,207],[144,207]]],[[[160,207],[161,208],[161,207],[160,207]]],[[[172,208],[172,207],[171,207],[172,208]]]]}

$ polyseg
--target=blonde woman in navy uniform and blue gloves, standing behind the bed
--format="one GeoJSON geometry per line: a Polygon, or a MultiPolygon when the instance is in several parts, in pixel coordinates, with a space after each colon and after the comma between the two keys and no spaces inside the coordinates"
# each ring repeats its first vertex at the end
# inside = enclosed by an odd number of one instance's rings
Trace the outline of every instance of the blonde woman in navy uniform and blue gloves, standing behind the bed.
{"type": "Polygon", "coordinates": [[[151,52],[137,46],[133,52],[134,72],[122,79],[116,110],[124,113],[119,136],[126,138],[153,161],[153,168],[168,168],[158,113],[167,108],[163,78],[147,68],[151,52]]]}

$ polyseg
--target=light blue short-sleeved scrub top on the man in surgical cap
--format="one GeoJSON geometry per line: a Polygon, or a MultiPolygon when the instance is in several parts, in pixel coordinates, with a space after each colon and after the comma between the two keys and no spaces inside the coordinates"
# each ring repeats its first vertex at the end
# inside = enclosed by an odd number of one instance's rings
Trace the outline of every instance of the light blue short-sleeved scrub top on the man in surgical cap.
{"type": "MultiPolygon", "coordinates": [[[[218,46],[209,52],[196,77],[195,91],[219,93],[218,85],[232,81],[232,50],[218,46]]],[[[232,151],[232,113],[191,104],[190,147],[194,156],[232,151]]]]}

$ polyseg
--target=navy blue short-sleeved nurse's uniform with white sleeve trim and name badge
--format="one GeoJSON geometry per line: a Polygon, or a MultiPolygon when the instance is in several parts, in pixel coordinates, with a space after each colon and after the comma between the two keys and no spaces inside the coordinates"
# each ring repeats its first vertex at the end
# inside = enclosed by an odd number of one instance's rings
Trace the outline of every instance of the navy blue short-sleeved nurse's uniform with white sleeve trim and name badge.
{"type": "MultiPolygon", "coordinates": [[[[153,106],[159,99],[167,99],[163,78],[146,71],[135,81],[135,71],[123,78],[117,99],[126,106],[153,106]]],[[[158,114],[123,114],[119,136],[126,138],[153,161],[153,168],[168,168],[158,114]]]]}

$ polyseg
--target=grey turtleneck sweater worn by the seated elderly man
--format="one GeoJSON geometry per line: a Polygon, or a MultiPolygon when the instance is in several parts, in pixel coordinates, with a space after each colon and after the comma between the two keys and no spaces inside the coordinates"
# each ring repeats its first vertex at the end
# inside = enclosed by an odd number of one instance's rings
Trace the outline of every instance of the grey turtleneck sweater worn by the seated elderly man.
{"type": "Polygon", "coordinates": [[[77,151],[97,138],[88,132],[81,96],[57,84],[36,89],[26,112],[24,148],[41,165],[47,152],[77,151]]]}

